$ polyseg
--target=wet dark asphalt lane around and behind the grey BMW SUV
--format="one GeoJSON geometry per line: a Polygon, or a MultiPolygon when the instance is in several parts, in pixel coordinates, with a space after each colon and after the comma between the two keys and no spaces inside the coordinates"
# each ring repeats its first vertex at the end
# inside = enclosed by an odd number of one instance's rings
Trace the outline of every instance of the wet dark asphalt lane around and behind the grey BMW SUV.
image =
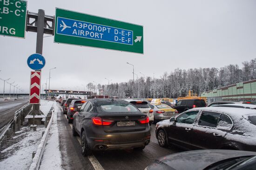
{"type": "Polygon", "coordinates": [[[81,138],[72,136],[72,124],[67,123],[67,115],[62,113],[60,105],[55,111],[58,114],[62,168],[65,170],[144,170],[156,158],[184,151],[175,147],[160,147],[155,137],[155,124],[152,124],[150,143],[143,151],[97,151],[93,156],[83,157],[81,138]]]}

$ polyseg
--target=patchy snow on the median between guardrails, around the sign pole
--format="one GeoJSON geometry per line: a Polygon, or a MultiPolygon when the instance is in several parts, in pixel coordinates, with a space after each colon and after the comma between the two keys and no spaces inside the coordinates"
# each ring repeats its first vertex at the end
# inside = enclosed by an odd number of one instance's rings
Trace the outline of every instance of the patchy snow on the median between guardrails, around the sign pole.
{"type": "MultiPolygon", "coordinates": [[[[40,110],[47,114],[53,104],[54,101],[41,100],[40,110]]],[[[44,125],[38,125],[37,131],[31,131],[29,126],[24,126],[20,131],[15,132],[7,140],[7,144],[12,144],[0,152],[0,170],[29,169],[32,163],[32,153],[37,150],[45,129],[44,125]]]]}

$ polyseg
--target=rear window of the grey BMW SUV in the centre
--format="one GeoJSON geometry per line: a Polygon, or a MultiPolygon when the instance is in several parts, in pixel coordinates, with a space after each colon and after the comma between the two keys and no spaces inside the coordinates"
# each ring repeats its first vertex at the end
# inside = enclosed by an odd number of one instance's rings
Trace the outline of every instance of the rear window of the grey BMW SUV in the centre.
{"type": "Polygon", "coordinates": [[[102,103],[98,104],[99,108],[103,112],[138,112],[139,110],[131,105],[125,103],[102,103]]]}

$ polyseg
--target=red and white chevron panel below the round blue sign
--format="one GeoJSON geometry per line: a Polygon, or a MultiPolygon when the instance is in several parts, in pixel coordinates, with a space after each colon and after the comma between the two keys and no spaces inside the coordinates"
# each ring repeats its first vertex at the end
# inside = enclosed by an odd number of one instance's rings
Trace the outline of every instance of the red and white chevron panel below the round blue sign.
{"type": "Polygon", "coordinates": [[[29,103],[40,104],[40,78],[41,72],[30,73],[29,103]]]}

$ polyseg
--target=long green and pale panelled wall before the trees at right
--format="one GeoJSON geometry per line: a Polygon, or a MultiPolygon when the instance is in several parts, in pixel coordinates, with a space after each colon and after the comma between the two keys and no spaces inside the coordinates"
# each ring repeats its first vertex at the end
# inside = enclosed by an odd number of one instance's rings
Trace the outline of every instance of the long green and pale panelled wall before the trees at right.
{"type": "Polygon", "coordinates": [[[201,97],[214,98],[222,97],[222,100],[233,101],[255,101],[256,100],[256,79],[219,89],[203,92],[201,97]]]}

